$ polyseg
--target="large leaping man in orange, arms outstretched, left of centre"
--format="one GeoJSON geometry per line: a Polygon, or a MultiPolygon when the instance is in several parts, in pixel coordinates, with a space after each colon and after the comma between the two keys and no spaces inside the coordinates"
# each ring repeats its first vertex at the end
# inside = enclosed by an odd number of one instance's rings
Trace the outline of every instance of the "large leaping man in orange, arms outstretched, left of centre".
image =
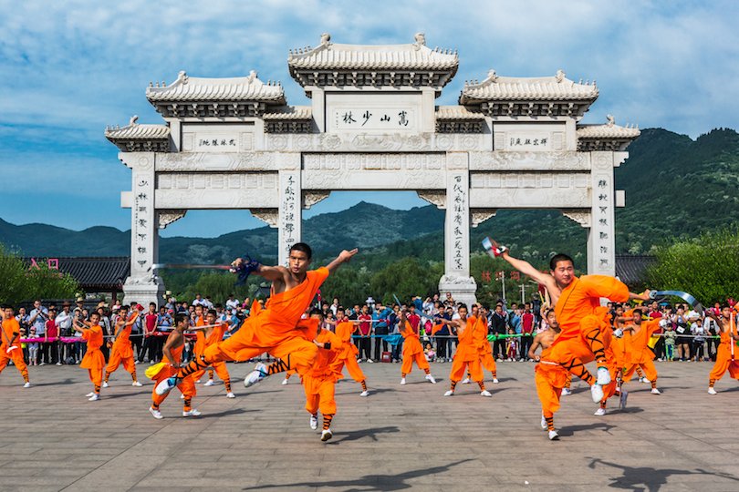
{"type": "MultiPolygon", "coordinates": [[[[265,377],[297,370],[305,374],[317,355],[317,346],[298,333],[297,323],[307,306],[313,301],[321,284],[330,272],[357,254],[358,250],[341,251],[327,267],[308,271],[312,251],[304,242],[293,244],[289,251],[289,268],[255,265],[254,273],[272,282],[272,294],[265,303],[265,309],[251,313],[239,331],[221,343],[207,347],[200,357],[178,371],[176,378],[169,378],[157,385],[157,393],[163,395],[176,385],[177,378],[193,374],[209,365],[226,360],[248,360],[259,354],[273,355],[277,361],[268,366],[256,364],[255,370],[247,374],[246,387],[259,383],[265,377]]],[[[236,269],[244,260],[234,261],[236,269]]]]}

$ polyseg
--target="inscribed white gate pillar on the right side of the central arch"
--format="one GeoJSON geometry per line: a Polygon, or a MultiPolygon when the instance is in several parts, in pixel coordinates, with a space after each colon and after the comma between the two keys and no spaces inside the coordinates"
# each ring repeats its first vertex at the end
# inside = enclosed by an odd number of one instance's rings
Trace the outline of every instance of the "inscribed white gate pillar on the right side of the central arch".
{"type": "Polygon", "coordinates": [[[470,167],[467,152],[448,152],[446,159],[444,275],[439,292],[455,301],[476,302],[477,284],[470,276],[470,167]]]}

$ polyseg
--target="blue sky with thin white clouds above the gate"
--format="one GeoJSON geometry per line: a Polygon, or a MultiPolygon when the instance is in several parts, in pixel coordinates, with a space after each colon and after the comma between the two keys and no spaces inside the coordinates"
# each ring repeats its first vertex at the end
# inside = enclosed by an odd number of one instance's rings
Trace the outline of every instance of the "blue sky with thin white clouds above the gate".
{"type": "MultiPolygon", "coordinates": [[[[289,104],[307,104],[287,73],[287,50],[332,41],[457,48],[460,68],[439,104],[455,104],[465,79],[554,75],[596,79],[584,122],[662,127],[691,137],[737,128],[739,2],[12,2],[0,0],[0,218],[80,230],[130,229],[120,191],[130,170],[103,137],[106,125],[161,119],[145,87],[255,69],[280,80],[289,104]],[[186,6],[185,6],[186,5],[186,6]]],[[[422,206],[411,193],[335,193],[307,210],[359,200],[422,206]]],[[[242,211],[188,213],[163,235],[217,236],[260,227],[242,211]]]]}

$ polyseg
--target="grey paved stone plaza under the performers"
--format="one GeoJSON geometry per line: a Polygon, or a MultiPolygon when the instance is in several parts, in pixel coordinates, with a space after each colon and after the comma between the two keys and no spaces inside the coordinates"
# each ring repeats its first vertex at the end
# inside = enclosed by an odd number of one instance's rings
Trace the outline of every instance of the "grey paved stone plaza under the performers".
{"type": "MultiPolygon", "coordinates": [[[[706,394],[711,364],[658,364],[663,395],[630,384],[626,412],[596,417],[583,384],[556,415],[561,440],[539,428],[533,364],[499,363],[493,398],[460,385],[444,398],[450,364],[401,386],[400,364],[362,364],[372,395],[338,384],[334,438],[308,427],[297,378],[273,377],[236,399],[199,385],[198,418],[182,418],[175,391],[163,420],[147,412],[151,382],[118,372],[88,402],[87,372],[14,367],[0,375],[2,490],[697,490],[739,489],[739,386],[706,394]]],[[[241,379],[250,369],[230,364],[241,379]]],[[[142,374],[144,366],[139,366],[142,374]]]]}

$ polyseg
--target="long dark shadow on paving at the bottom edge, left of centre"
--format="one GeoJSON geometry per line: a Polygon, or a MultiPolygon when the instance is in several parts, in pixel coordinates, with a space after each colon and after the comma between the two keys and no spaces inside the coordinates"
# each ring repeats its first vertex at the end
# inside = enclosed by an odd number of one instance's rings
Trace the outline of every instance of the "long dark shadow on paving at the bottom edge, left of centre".
{"type": "Polygon", "coordinates": [[[382,475],[365,475],[354,480],[329,480],[328,482],[298,482],[293,484],[260,484],[255,487],[245,487],[243,490],[261,490],[264,488],[307,488],[307,487],[332,487],[340,490],[346,490],[347,492],[372,492],[372,491],[393,491],[393,490],[405,490],[411,488],[411,484],[407,484],[406,480],[419,477],[427,477],[429,475],[436,475],[449,471],[452,466],[461,465],[472,459],[463,459],[460,461],[454,461],[449,465],[445,466],[432,466],[430,468],[422,468],[418,470],[411,470],[403,472],[397,475],[382,474],[382,475]]]}

